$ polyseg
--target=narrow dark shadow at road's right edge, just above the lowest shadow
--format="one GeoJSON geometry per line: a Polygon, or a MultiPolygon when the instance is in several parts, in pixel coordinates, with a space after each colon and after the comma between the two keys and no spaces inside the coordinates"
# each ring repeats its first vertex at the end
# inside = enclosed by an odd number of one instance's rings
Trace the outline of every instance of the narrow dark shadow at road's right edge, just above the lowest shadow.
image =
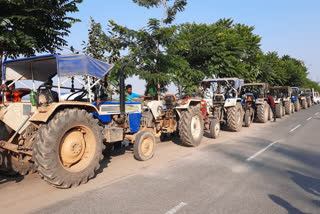
{"type": "Polygon", "coordinates": [[[300,186],[304,191],[320,197],[320,179],[288,171],[293,182],[300,186]]]}

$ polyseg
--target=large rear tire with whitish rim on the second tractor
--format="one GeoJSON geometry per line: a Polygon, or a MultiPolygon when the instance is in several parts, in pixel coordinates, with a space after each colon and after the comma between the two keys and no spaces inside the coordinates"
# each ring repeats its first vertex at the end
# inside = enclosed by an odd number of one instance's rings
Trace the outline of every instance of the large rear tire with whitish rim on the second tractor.
{"type": "Polygon", "coordinates": [[[182,112],[179,121],[179,135],[186,146],[198,146],[201,143],[204,132],[202,112],[199,107],[191,106],[182,112]]]}

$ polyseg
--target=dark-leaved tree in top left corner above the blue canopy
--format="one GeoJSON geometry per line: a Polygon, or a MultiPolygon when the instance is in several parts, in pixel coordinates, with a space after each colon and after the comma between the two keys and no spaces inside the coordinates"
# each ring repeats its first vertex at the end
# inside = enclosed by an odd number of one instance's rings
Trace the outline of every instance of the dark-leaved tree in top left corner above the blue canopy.
{"type": "Polygon", "coordinates": [[[1,0],[0,63],[19,55],[54,53],[67,44],[64,37],[75,22],[69,16],[77,12],[82,0],[1,0]]]}

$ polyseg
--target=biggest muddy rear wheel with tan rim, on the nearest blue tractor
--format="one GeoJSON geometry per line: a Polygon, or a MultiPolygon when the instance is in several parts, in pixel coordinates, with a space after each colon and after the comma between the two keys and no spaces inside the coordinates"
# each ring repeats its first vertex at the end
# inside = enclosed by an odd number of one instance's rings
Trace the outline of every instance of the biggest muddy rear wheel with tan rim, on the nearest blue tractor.
{"type": "Polygon", "coordinates": [[[33,158],[48,183],[70,188],[87,183],[103,159],[102,127],[85,110],[64,109],[42,125],[35,139],[33,158]]]}

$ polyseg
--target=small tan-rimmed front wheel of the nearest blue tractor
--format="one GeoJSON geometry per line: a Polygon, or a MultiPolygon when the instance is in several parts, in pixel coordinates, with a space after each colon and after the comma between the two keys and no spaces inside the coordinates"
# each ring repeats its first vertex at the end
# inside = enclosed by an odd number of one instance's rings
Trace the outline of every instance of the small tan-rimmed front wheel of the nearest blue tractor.
{"type": "Polygon", "coordinates": [[[152,132],[140,132],[137,134],[133,144],[134,157],[140,161],[149,160],[154,155],[155,144],[156,137],[152,132]]]}

